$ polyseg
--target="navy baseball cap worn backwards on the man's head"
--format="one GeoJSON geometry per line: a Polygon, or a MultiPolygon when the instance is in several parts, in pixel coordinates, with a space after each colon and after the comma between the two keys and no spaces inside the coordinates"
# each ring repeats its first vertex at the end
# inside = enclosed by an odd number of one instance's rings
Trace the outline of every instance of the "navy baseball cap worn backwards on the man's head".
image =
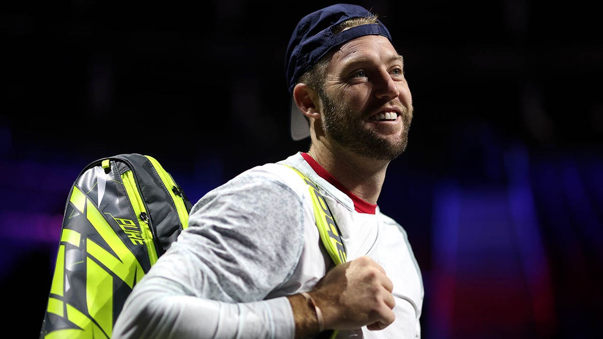
{"type": "Polygon", "coordinates": [[[359,5],[336,4],[317,10],[298,22],[286,53],[286,77],[291,94],[291,138],[298,141],[308,138],[310,128],[303,113],[293,99],[293,89],[306,71],[314,66],[327,52],[352,39],[368,35],[385,36],[391,42],[390,32],[377,20],[333,34],[332,28],[353,17],[369,17],[373,14],[359,5]]]}

